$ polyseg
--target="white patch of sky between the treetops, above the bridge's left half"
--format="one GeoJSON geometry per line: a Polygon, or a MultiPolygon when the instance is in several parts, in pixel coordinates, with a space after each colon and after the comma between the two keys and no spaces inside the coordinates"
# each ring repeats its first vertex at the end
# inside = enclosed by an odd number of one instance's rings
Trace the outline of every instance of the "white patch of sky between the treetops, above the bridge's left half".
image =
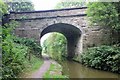
{"type": "Polygon", "coordinates": [[[60,0],[32,0],[35,10],[50,10],[54,9],[55,5],[60,0]]]}

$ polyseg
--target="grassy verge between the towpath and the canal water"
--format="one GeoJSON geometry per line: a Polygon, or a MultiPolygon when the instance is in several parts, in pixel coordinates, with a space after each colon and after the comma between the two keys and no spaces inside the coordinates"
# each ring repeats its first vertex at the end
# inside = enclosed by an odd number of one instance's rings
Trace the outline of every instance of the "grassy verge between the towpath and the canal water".
{"type": "Polygon", "coordinates": [[[43,78],[68,78],[62,75],[62,67],[58,63],[52,63],[49,70],[44,74],[43,78]]]}

